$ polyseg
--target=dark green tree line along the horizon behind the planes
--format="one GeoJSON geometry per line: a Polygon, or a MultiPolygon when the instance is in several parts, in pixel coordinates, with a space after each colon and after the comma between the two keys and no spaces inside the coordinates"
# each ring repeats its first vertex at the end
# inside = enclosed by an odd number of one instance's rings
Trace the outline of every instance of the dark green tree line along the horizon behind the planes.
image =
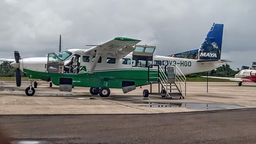
{"type": "MultiPolygon", "coordinates": [[[[252,62],[252,66],[242,66],[241,69],[237,68],[237,70],[232,70],[229,64],[222,64],[222,66],[216,68],[215,70],[211,70],[208,72],[199,72],[196,74],[188,74],[186,77],[188,78],[196,78],[200,76],[222,76],[222,77],[234,77],[240,70],[245,69],[256,69],[256,62],[252,62]]],[[[10,62],[2,62],[0,64],[0,77],[14,77],[16,75],[16,68],[12,68],[10,66],[10,62]]],[[[25,76],[22,74],[22,76],[25,76]]]]}

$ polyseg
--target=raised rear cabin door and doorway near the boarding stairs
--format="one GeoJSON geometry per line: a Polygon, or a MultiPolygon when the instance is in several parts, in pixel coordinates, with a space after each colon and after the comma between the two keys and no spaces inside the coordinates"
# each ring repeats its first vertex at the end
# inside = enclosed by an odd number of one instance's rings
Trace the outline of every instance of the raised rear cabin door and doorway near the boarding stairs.
{"type": "Polygon", "coordinates": [[[148,67],[153,63],[153,54],[156,46],[135,45],[132,55],[132,66],[148,67]]]}

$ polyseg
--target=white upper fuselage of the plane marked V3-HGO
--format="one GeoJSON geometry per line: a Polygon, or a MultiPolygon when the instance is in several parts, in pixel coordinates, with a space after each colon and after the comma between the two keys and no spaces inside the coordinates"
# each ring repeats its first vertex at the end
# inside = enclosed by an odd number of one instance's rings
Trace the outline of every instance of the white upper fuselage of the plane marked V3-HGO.
{"type": "MultiPolygon", "coordinates": [[[[80,66],[86,66],[87,72],[90,70],[92,66],[92,59],[93,56],[90,57],[89,62],[83,62],[82,56],[88,56],[85,55],[84,49],[70,49],[69,52],[72,52],[72,55],[70,55],[66,60],[64,60],[64,64],[67,64],[66,61],[70,61],[70,58],[74,56],[74,54],[80,55],[80,66]]],[[[126,55],[124,58],[128,58],[132,61],[132,52],[128,55],[126,55]]],[[[132,66],[132,62],[130,64],[122,64],[122,58],[116,58],[115,64],[108,64],[107,58],[102,57],[102,62],[97,63],[96,68],[94,71],[99,70],[121,70],[121,69],[148,69],[147,67],[136,67],[132,66]]],[[[37,71],[37,72],[48,72],[47,71],[47,57],[38,57],[38,58],[23,58],[20,60],[20,70],[23,72],[23,69],[37,71]]],[[[222,64],[222,62],[214,61],[214,62],[197,62],[197,60],[193,59],[186,59],[186,58],[174,58],[174,57],[168,57],[168,56],[153,56],[153,62],[158,61],[157,64],[160,64],[162,67],[164,65],[171,65],[176,64],[178,68],[182,71],[184,75],[186,74],[192,74],[197,72],[204,72],[204,71],[210,71],[222,64]],[[160,62],[161,61],[161,62],[160,62]]]]}

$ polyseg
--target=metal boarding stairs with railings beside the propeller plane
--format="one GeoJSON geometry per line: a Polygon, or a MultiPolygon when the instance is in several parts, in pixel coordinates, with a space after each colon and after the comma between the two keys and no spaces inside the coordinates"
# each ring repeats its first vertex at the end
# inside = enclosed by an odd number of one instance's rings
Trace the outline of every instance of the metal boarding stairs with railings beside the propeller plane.
{"type": "Polygon", "coordinates": [[[152,64],[148,66],[148,82],[152,95],[161,95],[167,99],[172,97],[185,98],[186,96],[186,77],[176,65],[152,64]],[[158,84],[158,92],[152,92],[152,86],[158,84]]]}

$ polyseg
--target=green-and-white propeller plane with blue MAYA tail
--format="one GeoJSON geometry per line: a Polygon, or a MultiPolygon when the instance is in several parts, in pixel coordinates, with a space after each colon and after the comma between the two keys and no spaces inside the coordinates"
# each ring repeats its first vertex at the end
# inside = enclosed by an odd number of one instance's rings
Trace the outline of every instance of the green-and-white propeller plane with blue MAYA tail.
{"type": "Polygon", "coordinates": [[[150,84],[148,67],[152,64],[176,65],[186,75],[213,70],[230,62],[220,59],[222,33],[223,24],[213,24],[199,49],[169,56],[154,55],[155,46],[136,45],[140,40],[116,37],[88,50],[68,49],[42,58],[20,58],[15,51],[15,61],[0,60],[13,61],[10,65],[17,68],[17,86],[21,84],[20,71],[30,78],[25,90],[28,96],[35,93],[31,81],[35,78],[52,81],[60,91],[71,91],[73,86],[90,87],[92,95],[108,97],[109,88],[129,87],[131,91],[136,86],[150,84]]]}

